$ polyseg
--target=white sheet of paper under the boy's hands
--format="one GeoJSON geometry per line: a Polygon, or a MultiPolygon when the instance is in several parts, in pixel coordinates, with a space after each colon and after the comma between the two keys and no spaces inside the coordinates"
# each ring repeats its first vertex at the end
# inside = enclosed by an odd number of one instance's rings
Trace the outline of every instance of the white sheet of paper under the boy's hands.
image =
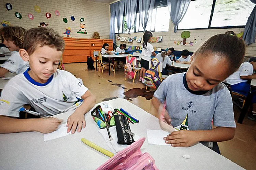
{"type": "Polygon", "coordinates": [[[67,133],[68,127],[66,127],[66,124],[67,124],[66,122],[61,124],[59,126],[59,129],[57,129],[56,131],[53,131],[52,133],[44,134],[44,141],[57,139],[57,138],[71,134],[71,131],[67,133]]]}

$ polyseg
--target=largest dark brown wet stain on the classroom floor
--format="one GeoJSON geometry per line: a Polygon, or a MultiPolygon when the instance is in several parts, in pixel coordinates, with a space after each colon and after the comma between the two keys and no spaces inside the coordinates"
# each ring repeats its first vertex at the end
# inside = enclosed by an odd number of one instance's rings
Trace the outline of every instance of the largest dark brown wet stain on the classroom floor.
{"type": "Polygon", "coordinates": [[[146,88],[132,88],[128,91],[125,91],[123,94],[125,95],[124,99],[132,101],[132,99],[137,98],[138,96],[145,97],[147,100],[153,98],[155,91],[149,91],[150,89],[146,90],[146,88]]]}

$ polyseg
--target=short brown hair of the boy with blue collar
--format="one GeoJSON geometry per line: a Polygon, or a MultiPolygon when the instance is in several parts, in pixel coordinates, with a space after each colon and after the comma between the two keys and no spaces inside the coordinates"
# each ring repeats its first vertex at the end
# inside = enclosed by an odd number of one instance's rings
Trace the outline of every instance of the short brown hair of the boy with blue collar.
{"type": "Polygon", "coordinates": [[[33,54],[37,47],[45,45],[62,52],[65,47],[63,38],[52,28],[36,27],[26,31],[23,48],[29,55],[33,54]]]}

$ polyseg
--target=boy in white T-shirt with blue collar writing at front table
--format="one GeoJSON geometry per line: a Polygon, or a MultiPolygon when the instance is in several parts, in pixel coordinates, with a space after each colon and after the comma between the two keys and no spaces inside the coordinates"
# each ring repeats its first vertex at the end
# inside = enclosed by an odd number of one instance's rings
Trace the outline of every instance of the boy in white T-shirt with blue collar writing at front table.
{"type": "Polygon", "coordinates": [[[96,98],[74,75],[57,70],[64,46],[63,38],[51,28],[37,27],[26,32],[19,54],[30,68],[12,78],[2,91],[0,133],[50,133],[61,124],[57,118],[18,119],[25,104],[48,115],[76,108],[67,119],[67,132],[72,128],[73,134],[85,128],[84,115],[95,105],[96,98]]]}

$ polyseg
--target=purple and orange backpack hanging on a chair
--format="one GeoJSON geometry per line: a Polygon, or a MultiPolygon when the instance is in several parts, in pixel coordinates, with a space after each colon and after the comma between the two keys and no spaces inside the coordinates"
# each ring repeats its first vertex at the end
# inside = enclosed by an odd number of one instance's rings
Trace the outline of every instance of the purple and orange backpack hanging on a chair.
{"type": "Polygon", "coordinates": [[[158,71],[156,70],[156,68],[158,67],[158,65],[160,64],[160,62],[158,62],[156,64],[156,66],[154,66],[154,63],[151,61],[151,68],[148,69],[145,72],[145,76],[144,76],[144,81],[145,81],[145,85],[147,87],[153,88],[153,89],[157,89],[160,84],[161,84],[161,73],[159,75],[158,71]]]}

